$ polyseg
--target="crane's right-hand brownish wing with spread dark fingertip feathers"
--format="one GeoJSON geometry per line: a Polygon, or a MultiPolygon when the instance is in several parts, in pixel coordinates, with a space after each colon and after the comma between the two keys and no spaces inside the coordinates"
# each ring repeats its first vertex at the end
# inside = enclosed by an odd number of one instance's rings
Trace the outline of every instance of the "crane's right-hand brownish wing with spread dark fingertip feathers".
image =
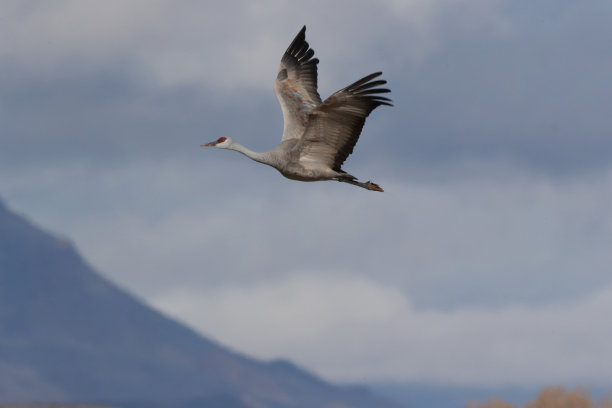
{"type": "Polygon", "coordinates": [[[370,74],[327,98],[308,119],[300,145],[300,161],[312,161],[341,171],[342,163],[353,152],[366,118],[380,105],[393,106],[391,99],[378,94],[387,81],[370,74]]]}

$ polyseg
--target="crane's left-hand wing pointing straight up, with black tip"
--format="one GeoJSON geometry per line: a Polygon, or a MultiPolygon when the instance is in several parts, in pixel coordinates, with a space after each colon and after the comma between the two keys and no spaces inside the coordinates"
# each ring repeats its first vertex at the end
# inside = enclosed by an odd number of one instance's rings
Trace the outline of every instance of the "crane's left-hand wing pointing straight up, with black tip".
{"type": "Polygon", "coordinates": [[[317,64],[314,50],[306,42],[306,26],[300,30],[281,59],[274,93],[283,110],[282,140],[304,133],[308,114],[321,103],[317,92],[317,64]]]}

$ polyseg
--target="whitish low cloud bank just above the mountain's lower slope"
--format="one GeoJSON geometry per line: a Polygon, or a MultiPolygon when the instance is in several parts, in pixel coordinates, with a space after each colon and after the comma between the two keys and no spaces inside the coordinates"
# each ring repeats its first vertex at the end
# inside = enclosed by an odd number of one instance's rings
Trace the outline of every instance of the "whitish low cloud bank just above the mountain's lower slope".
{"type": "Polygon", "coordinates": [[[612,374],[610,286],[559,307],[419,311],[371,279],[296,274],[156,304],[233,347],[338,381],[607,386],[612,374]]]}

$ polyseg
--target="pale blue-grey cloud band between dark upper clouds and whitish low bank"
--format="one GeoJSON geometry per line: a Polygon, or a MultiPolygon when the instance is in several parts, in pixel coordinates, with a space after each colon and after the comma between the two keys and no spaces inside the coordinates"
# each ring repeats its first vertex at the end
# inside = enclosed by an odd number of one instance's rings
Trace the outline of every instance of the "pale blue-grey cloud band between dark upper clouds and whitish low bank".
{"type": "Polygon", "coordinates": [[[143,296],[302,269],[376,276],[437,308],[547,304],[610,283],[609,172],[383,184],[357,167],[386,188],[364,195],[294,183],[234,153],[198,153],[0,181],[9,199],[69,232],[95,266],[143,296]]]}

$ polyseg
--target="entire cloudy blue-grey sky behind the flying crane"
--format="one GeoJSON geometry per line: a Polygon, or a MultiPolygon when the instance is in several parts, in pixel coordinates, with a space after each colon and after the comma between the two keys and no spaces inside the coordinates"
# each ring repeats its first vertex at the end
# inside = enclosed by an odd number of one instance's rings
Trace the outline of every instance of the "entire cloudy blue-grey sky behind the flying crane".
{"type": "Polygon", "coordinates": [[[0,1],[0,196],[149,304],[334,381],[612,378],[612,3],[0,1]],[[302,25],[323,97],[395,107],[345,168],[275,147],[302,25]]]}

